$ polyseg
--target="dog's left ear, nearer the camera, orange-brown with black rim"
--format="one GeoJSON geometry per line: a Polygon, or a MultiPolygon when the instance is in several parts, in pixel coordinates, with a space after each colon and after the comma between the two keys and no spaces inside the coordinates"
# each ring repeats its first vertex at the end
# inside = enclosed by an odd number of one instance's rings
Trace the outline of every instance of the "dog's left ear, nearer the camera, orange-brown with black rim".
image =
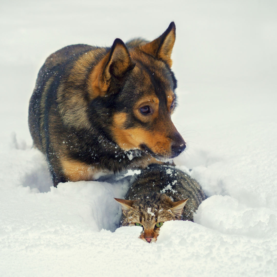
{"type": "Polygon", "coordinates": [[[121,39],[115,39],[111,50],[95,66],[91,74],[91,96],[104,96],[112,83],[120,83],[126,73],[134,68],[127,47],[121,39]],[[117,81],[112,82],[112,79],[117,81]]]}

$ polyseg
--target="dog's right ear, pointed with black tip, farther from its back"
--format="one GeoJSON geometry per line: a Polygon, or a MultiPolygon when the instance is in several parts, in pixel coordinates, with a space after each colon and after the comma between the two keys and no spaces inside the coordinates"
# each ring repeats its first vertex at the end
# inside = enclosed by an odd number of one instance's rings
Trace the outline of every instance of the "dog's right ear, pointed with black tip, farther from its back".
{"type": "Polygon", "coordinates": [[[176,37],[175,30],[175,23],[171,22],[166,31],[160,37],[141,46],[141,49],[143,52],[165,61],[171,67],[172,60],[170,56],[176,37]]]}

